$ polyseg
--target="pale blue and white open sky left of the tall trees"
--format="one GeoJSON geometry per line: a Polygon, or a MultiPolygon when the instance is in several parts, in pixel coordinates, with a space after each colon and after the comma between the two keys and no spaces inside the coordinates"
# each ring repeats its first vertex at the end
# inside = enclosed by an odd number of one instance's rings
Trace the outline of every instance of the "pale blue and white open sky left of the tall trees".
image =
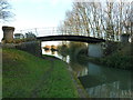
{"type": "MultiPolygon", "coordinates": [[[[2,26],[14,27],[16,30],[58,27],[64,20],[65,11],[71,10],[71,0],[9,0],[16,14],[10,22],[2,26]]],[[[3,33],[0,29],[0,40],[3,33]]]]}

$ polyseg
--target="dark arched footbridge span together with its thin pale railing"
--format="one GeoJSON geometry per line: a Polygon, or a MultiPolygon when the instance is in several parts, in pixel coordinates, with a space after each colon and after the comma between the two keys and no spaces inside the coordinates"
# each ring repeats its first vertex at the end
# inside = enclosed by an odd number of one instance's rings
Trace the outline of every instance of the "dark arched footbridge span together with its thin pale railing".
{"type": "Polygon", "coordinates": [[[32,32],[37,36],[37,40],[40,41],[80,41],[88,43],[105,42],[104,39],[88,37],[88,34],[84,32],[71,33],[66,32],[66,30],[62,32],[57,27],[25,29],[20,30],[20,32],[32,32]]]}

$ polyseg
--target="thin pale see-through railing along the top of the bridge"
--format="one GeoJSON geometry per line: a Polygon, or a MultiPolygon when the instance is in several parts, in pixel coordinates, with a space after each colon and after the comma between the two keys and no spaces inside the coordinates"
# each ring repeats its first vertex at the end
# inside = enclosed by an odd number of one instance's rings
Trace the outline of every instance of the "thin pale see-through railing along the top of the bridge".
{"type": "MultiPolygon", "coordinates": [[[[81,30],[81,29],[80,29],[81,30]]],[[[82,31],[81,32],[71,32],[70,30],[63,30],[60,31],[57,27],[45,27],[45,28],[32,28],[32,29],[22,29],[22,30],[17,30],[16,33],[22,33],[25,34],[28,32],[34,33],[37,37],[44,37],[44,36],[85,36],[88,37],[88,33],[82,31]]],[[[90,37],[93,37],[90,34],[90,37]]],[[[98,37],[93,37],[98,38],[98,37]]],[[[101,37],[104,39],[104,37],[101,37]]]]}

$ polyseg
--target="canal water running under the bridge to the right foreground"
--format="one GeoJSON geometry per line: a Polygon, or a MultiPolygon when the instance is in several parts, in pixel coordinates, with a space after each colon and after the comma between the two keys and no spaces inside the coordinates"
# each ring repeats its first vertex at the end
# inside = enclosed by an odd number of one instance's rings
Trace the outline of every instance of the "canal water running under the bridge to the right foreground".
{"type": "Polygon", "coordinates": [[[131,71],[84,62],[57,51],[44,51],[68,62],[91,98],[133,98],[131,71]]]}

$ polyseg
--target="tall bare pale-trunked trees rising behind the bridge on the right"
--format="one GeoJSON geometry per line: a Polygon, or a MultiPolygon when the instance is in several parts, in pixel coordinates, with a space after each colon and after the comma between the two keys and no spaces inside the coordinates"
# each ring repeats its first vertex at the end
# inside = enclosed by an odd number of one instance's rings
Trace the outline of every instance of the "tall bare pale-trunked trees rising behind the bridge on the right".
{"type": "Polygon", "coordinates": [[[120,34],[132,34],[131,2],[73,2],[60,26],[63,33],[90,36],[119,41],[120,34]]]}

